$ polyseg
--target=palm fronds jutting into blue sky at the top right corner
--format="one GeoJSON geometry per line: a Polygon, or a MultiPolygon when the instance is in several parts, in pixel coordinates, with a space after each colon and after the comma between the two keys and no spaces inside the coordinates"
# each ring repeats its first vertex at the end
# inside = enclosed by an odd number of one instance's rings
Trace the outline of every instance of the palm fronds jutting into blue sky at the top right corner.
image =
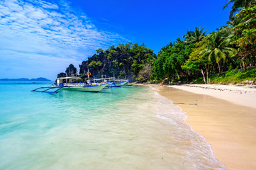
{"type": "Polygon", "coordinates": [[[228,0],[228,3],[223,7],[223,9],[227,8],[230,3],[233,3],[233,6],[230,11],[229,19],[233,18],[234,13],[240,11],[241,8],[248,8],[250,5],[255,5],[256,0],[228,0]]]}

